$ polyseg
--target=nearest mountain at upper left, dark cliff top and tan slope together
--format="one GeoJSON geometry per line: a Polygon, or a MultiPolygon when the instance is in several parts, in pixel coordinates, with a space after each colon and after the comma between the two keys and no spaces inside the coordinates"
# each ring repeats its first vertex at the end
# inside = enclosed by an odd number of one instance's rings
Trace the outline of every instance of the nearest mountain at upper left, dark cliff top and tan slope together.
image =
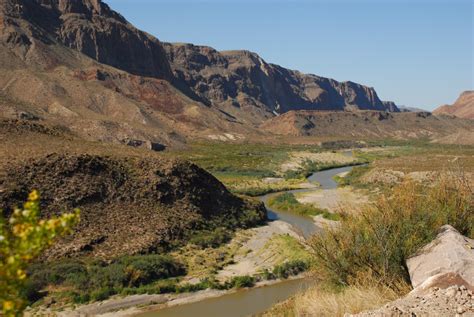
{"type": "Polygon", "coordinates": [[[249,130],[177,88],[161,43],[101,1],[1,0],[0,26],[1,116],[126,144],[249,130]]]}

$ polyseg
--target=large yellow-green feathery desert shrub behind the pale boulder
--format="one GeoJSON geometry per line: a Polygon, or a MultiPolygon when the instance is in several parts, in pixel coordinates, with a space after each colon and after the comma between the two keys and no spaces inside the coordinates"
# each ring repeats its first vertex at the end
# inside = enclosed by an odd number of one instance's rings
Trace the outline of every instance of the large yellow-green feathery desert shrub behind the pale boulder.
{"type": "Polygon", "coordinates": [[[406,182],[382,195],[360,215],[343,219],[341,229],[313,237],[317,264],[334,285],[353,285],[371,276],[400,291],[409,282],[405,260],[450,224],[474,235],[472,190],[452,176],[427,187],[406,182]]]}

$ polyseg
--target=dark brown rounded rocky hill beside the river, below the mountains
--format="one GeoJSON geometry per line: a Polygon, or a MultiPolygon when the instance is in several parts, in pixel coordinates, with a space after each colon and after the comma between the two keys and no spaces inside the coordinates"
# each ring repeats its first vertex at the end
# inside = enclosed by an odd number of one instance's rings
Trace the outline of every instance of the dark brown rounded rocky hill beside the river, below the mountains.
{"type": "Polygon", "coordinates": [[[43,217],[81,209],[73,235],[48,259],[162,252],[202,230],[231,232],[265,219],[263,205],[232,195],[194,164],[87,142],[61,128],[0,121],[0,161],[7,216],[33,189],[43,217]]]}

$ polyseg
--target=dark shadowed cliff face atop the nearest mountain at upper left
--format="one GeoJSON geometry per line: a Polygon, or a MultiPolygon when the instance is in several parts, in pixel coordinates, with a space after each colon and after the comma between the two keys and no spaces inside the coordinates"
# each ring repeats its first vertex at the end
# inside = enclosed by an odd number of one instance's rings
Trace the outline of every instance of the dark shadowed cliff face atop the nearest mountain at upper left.
{"type": "Polygon", "coordinates": [[[35,41],[58,41],[135,75],[172,78],[161,43],[100,0],[2,0],[0,6],[10,43],[28,47],[35,41]],[[30,23],[30,34],[20,21],[30,23]]]}

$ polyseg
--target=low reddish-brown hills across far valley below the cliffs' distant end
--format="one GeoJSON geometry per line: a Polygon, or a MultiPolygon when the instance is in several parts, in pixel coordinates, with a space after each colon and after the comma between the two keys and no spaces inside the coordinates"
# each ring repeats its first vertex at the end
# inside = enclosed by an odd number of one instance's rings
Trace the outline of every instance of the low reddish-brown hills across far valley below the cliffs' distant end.
{"type": "Polygon", "coordinates": [[[470,120],[434,116],[428,112],[380,111],[291,111],[264,122],[261,128],[289,136],[396,139],[442,137],[451,135],[452,131],[467,135],[474,129],[470,120]]]}

